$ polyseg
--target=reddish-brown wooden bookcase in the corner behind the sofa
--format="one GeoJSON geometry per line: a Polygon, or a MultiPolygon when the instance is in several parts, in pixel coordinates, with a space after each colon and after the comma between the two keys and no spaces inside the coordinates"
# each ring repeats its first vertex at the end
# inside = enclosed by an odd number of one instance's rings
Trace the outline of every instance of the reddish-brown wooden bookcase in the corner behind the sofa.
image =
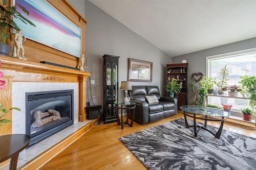
{"type": "MultiPolygon", "coordinates": [[[[182,82],[182,89],[180,93],[175,97],[178,98],[178,109],[180,106],[187,105],[187,69],[188,63],[184,64],[166,64],[166,84],[168,81],[173,78],[179,82],[182,82]]],[[[169,96],[169,93],[166,92],[166,96],[169,96]]]]}

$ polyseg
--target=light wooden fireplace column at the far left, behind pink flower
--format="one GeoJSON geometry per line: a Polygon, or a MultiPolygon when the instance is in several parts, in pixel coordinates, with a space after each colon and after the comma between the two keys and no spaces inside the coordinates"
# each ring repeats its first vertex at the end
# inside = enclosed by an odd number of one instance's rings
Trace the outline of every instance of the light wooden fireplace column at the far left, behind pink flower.
{"type": "MultiPolygon", "coordinates": [[[[4,105],[4,107],[8,110],[12,107],[12,79],[15,76],[15,71],[10,70],[2,70],[4,72],[4,78],[1,80],[6,81],[6,88],[0,90],[0,103],[4,105]]],[[[7,118],[12,120],[12,112],[7,113],[3,118],[7,118]]],[[[12,134],[12,124],[3,124],[0,128],[0,135],[12,134]]]]}

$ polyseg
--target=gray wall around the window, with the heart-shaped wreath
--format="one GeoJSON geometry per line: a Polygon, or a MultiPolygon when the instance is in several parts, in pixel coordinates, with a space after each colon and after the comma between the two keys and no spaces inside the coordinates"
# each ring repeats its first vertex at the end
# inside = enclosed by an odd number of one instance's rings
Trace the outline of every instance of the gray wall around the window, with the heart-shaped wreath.
{"type": "Polygon", "coordinates": [[[206,75],[206,57],[247,50],[254,47],[256,47],[256,38],[251,38],[194,53],[173,57],[173,63],[181,63],[182,60],[187,60],[189,75],[193,74],[194,72],[202,72],[202,74],[206,75]]]}

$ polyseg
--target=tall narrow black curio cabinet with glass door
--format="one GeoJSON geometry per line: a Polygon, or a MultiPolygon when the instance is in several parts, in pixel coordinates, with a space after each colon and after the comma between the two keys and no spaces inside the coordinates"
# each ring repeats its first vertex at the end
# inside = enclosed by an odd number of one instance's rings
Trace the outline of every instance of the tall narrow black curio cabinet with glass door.
{"type": "Polygon", "coordinates": [[[118,56],[104,55],[103,76],[103,121],[112,123],[117,121],[114,102],[118,101],[118,56]]]}

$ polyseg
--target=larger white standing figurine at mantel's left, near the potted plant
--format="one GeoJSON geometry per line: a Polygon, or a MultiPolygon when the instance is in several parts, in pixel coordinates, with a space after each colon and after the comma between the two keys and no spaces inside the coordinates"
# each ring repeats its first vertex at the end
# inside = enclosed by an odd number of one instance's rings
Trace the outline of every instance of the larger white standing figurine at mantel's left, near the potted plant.
{"type": "Polygon", "coordinates": [[[23,30],[20,29],[19,31],[17,31],[14,34],[15,44],[13,44],[12,57],[17,57],[17,58],[22,59],[22,60],[27,60],[24,57],[25,50],[24,50],[24,47],[23,47],[23,42],[26,41],[27,37],[22,35],[22,32],[23,32],[23,30]],[[19,57],[19,50],[22,50],[22,57],[19,57]]]}

